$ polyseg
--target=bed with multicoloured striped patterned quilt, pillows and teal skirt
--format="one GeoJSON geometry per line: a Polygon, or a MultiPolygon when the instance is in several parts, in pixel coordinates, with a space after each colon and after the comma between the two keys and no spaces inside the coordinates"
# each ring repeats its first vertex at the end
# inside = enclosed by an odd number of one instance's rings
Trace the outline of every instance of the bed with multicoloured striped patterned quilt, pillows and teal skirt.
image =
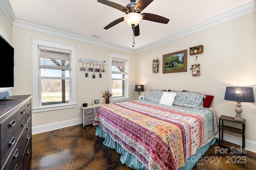
{"type": "Polygon", "coordinates": [[[100,107],[93,125],[104,145],[133,169],[192,169],[214,144],[216,113],[203,107],[206,95],[151,90],[145,100],[100,107]]]}

